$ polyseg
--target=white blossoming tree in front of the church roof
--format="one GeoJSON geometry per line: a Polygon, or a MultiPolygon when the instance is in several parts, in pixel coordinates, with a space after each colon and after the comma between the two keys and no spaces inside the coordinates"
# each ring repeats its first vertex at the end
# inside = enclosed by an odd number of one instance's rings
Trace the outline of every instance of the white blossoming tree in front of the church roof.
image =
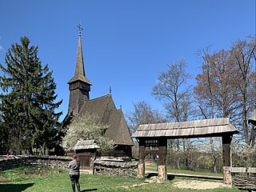
{"type": "Polygon", "coordinates": [[[102,125],[95,114],[83,114],[75,117],[67,127],[66,136],[63,138],[62,146],[66,150],[71,150],[78,140],[94,139],[100,147],[100,152],[107,152],[114,149],[114,142],[106,138],[105,132],[108,126],[102,125]]]}

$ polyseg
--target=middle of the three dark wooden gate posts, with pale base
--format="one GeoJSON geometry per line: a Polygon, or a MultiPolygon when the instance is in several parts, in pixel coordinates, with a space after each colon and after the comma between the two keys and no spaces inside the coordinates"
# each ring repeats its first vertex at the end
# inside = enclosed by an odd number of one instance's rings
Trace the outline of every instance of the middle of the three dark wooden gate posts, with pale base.
{"type": "Polygon", "coordinates": [[[167,139],[159,138],[158,143],[159,143],[158,178],[160,181],[164,182],[167,180],[167,172],[166,172],[167,139]]]}

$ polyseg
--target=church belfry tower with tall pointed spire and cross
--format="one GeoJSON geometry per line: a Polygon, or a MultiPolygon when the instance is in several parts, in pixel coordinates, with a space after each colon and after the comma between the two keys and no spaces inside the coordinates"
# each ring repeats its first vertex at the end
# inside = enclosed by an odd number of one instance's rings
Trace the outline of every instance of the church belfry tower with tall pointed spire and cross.
{"type": "Polygon", "coordinates": [[[85,67],[82,56],[82,26],[78,25],[79,39],[78,39],[78,53],[77,62],[75,65],[74,77],[70,79],[69,90],[70,90],[70,102],[68,114],[76,115],[82,108],[83,103],[90,99],[90,81],[86,78],[85,67]]]}

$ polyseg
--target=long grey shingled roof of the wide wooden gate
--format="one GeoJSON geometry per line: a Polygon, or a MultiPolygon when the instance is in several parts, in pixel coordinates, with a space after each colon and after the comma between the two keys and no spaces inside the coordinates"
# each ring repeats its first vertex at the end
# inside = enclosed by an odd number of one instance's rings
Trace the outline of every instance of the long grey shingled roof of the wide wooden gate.
{"type": "Polygon", "coordinates": [[[237,134],[229,118],[212,118],[190,122],[155,123],[138,126],[134,138],[200,138],[237,134]]]}

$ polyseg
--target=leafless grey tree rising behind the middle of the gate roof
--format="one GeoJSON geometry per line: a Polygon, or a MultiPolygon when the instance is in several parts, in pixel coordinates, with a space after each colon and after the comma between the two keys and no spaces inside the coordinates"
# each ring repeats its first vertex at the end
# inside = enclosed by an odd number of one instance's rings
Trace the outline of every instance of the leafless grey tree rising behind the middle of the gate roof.
{"type": "MultiPolygon", "coordinates": [[[[186,121],[190,111],[190,93],[191,89],[188,80],[191,75],[186,72],[186,61],[184,59],[177,60],[172,65],[168,65],[169,69],[159,74],[158,83],[153,87],[152,94],[165,107],[170,121],[181,122],[186,121]]],[[[188,141],[188,140],[187,140],[188,141]]],[[[180,167],[180,140],[170,141],[169,154],[172,150],[176,150],[177,167],[180,167]],[[175,147],[174,147],[174,143],[175,147]]],[[[186,150],[186,141],[183,140],[183,149],[186,150]]]]}

